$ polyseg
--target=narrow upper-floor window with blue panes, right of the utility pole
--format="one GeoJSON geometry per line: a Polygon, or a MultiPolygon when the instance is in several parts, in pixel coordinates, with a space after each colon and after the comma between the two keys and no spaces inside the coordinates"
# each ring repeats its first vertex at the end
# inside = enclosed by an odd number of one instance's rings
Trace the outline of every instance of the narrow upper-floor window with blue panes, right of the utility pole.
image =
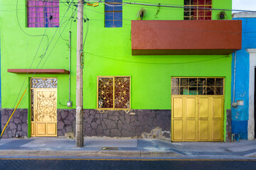
{"type": "Polygon", "coordinates": [[[105,27],[122,27],[122,0],[105,0],[105,27]]]}

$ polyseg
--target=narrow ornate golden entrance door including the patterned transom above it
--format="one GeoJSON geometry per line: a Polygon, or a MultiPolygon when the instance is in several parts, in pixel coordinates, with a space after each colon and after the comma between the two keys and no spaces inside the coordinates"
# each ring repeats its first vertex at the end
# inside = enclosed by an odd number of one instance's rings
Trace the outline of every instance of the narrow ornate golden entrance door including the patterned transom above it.
{"type": "Polygon", "coordinates": [[[34,80],[31,85],[31,136],[56,137],[57,80],[34,80]]]}

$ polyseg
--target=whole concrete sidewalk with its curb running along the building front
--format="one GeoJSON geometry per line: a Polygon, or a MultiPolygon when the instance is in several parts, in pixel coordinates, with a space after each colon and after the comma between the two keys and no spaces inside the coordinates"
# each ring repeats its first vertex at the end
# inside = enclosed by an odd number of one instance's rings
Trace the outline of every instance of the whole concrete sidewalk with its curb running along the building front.
{"type": "Polygon", "coordinates": [[[0,140],[0,158],[88,159],[256,159],[256,140],[238,142],[164,142],[87,137],[85,147],[65,138],[0,140]]]}

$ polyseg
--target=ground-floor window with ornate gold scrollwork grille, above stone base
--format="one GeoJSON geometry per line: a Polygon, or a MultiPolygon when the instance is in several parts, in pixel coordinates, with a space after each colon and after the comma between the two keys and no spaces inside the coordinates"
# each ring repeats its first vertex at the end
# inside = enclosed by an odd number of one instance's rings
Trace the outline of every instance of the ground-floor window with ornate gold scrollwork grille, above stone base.
{"type": "Polygon", "coordinates": [[[129,109],[131,77],[97,77],[97,108],[129,109]]]}

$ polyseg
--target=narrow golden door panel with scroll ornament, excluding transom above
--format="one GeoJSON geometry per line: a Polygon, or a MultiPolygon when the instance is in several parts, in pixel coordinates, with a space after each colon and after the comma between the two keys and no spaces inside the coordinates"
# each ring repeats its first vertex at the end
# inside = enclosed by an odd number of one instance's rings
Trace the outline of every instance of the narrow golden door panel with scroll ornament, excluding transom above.
{"type": "Polygon", "coordinates": [[[35,137],[57,136],[57,89],[34,89],[35,137]]]}

